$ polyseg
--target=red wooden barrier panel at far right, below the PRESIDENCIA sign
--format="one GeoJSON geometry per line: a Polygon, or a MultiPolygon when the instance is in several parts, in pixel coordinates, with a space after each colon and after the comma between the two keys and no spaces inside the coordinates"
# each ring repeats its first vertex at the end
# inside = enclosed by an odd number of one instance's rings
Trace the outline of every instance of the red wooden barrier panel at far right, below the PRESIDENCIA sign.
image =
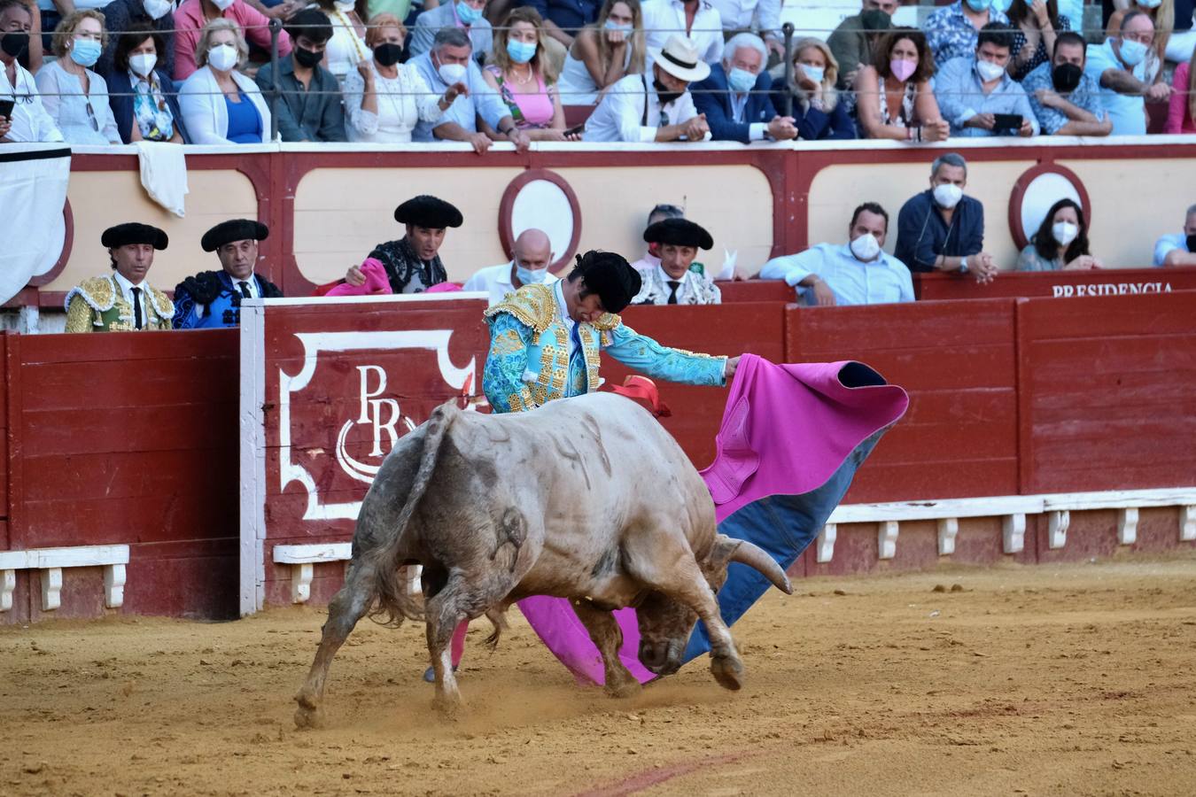
{"type": "Polygon", "coordinates": [[[1021,492],[1196,484],[1196,294],[1018,305],[1021,492]]]}

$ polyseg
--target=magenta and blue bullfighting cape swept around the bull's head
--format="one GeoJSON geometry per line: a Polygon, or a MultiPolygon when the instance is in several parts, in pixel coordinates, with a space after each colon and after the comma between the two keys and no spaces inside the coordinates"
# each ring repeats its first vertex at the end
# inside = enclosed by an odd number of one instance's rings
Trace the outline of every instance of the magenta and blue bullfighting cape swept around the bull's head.
{"type": "MultiPolygon", "coordinates": [[[[858,362],[777,366],[744,355],[722,413],[718,454],[701,472],[719,531],[761,546],[788,570],[908,405],[904,390],[858,362]]],[[[768,587],[757,571],[732,564],[719,590],[722,619],[734,623],[768,587]]],[[[580,682],[603,683],[602,657],[567,600],[529,597],[519,608],[580,682]]],[[[655,674],[639,660],[635,609],[615,617],[623,632],[620,657],[641,682],[652,680],[655,674]]],[[[698,623],[685,661],[708,650],[698,623]]]]}

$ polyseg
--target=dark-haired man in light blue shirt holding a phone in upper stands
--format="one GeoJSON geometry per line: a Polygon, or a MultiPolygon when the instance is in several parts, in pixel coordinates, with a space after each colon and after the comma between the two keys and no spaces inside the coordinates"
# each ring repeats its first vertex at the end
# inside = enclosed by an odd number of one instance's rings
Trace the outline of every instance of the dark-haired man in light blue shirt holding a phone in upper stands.
{"type": "Polygon", "coordinates": [[[952,59],[934,79],[934,98],[953,136],[1038,135],[1038,119],[1021,84],[1009,76],[1013,29],[984,25],[975,57],[952,59]]]}

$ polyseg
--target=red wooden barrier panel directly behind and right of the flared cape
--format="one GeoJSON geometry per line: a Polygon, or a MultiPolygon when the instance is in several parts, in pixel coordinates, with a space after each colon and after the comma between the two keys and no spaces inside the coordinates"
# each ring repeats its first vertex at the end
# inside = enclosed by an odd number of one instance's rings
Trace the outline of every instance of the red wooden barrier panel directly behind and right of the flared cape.
{"type": "Polygon", "coordinates": [[[846,503],[1018,491],[1008,299],[786,311],[789,362],[859,360],[910,393],[846,503]]]}

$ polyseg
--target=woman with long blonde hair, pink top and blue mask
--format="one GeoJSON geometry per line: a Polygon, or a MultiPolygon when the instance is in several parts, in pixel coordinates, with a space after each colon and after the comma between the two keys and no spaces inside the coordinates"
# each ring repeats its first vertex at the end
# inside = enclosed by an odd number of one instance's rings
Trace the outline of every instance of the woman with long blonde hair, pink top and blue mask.
{"type": "Polygon", "coordinates": [[[544,53],[544,22],[535,8],[515,8],[494,30],[486,81],[502,96],[515,125],[532,141],[576,141],[565,134],[556,72],[544,53]]]}

